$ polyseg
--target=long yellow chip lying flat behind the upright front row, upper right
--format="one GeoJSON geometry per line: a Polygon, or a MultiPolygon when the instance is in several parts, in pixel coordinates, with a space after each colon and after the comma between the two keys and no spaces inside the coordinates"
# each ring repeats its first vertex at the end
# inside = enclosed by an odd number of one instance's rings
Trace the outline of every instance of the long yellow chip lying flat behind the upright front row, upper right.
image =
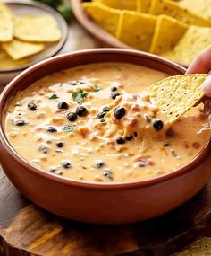
{"type": "Polygon", "coordinates": [[[166,14],[172,16],[178,21],[197,26],[211,26],[211,21],[198,17],[188,12],[176,2],[170,0],[152,0],[149,13],[159,15],[166,14]]]}

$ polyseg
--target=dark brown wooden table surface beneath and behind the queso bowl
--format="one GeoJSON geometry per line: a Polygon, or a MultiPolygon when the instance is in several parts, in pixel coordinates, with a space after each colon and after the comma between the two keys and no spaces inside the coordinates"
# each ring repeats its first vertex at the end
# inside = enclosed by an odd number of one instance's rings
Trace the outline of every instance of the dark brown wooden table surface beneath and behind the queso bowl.
{"type": "MultiPolygon", "coordinates": [[[[101,45],[72,22],[62,53],[96,47],[101,45]]],[[[147,222],[76,223],[30,203],[0,169],[0,256],[211,256],[210,216],[211,181],[185,205],[147,222]]]]}

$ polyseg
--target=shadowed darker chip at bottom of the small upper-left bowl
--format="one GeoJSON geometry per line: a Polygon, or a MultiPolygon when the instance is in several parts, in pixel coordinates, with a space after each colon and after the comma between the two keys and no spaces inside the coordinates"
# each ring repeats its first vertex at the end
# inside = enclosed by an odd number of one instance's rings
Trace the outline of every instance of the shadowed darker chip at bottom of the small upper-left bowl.
{"type": "Polygon", "coordinates": [[[18,66],[23,66],[29,63],[27,58],[22,58],[21,60],[13,60],[12,57],[9,57],[9,55],[0,47],[0,68],[6,69],[6,68],[13,68],[18,66]]]}

